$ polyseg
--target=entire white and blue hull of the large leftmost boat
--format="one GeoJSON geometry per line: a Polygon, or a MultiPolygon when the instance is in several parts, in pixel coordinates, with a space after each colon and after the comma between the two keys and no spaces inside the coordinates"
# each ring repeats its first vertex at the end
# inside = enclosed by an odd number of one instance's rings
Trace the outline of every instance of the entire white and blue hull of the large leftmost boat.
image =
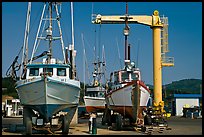
{"type": "MultiPolygon", "coordinates": [[[[64,80],[65,81],[65,80],[64,80]]],[[[68,112],[78,106],[80,83],[62,82],[52,77],[19,81],[16,86],[21,104],[38,111],[46,120],[59,111],[68,112]]]]}

